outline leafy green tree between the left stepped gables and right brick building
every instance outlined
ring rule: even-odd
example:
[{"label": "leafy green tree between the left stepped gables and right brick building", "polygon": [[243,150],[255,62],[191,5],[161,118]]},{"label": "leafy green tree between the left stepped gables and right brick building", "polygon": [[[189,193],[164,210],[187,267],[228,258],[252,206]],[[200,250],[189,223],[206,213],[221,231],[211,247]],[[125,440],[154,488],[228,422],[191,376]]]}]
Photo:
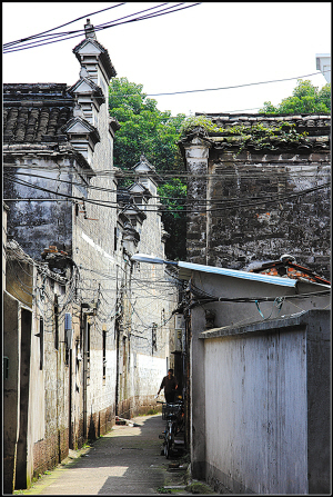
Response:
[{"label": "leafy green tree between the left stepped gables and right brick building", "polygon": [[[142,89],[142,85],[129,82],[127,78],[111,80],[110,116],[121,126],[114,138],[114,166],[130,170],[144,153],[158,172],[182,172],[184,166],[178,141],[185,116],[172,117],[170,111],[160,111],[157,101],[147,98]],[[161,181],[159,195],[165,206],[164,228],[170,235],[165,243],[167,257],[184,259],[186,187],[180,179],[170,178]]]}]

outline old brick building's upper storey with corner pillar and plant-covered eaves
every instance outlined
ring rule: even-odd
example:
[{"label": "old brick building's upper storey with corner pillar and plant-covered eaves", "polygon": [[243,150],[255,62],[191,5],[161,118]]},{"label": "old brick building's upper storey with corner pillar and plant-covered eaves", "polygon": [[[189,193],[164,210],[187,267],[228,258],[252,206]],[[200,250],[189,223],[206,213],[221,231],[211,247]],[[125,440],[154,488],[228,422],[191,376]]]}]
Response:
[{"label": "old brick building's upper storey with corner pillar and plant-covered eaves", "polygon": [[[195,129],[180,142],[190,175],[188,260],[248,270],[290,254],[330,279],[330,116],[208,117],[225,131]],[[304,140],[279,131],[265,146],[248,145],[233,129],[258,138],[283,122]]]}]

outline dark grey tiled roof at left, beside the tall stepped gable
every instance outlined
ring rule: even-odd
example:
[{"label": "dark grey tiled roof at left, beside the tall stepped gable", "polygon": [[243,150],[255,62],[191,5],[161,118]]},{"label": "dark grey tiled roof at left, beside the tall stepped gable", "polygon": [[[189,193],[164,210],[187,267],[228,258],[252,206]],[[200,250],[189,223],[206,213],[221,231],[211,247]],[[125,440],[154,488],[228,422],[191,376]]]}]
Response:
[{"label": "dark grey tiled roof at left, beside the tall stepped gable", "polygon": [[3,141],[67,141],[61,128],[73,116],[67,85],[3,85]]}]

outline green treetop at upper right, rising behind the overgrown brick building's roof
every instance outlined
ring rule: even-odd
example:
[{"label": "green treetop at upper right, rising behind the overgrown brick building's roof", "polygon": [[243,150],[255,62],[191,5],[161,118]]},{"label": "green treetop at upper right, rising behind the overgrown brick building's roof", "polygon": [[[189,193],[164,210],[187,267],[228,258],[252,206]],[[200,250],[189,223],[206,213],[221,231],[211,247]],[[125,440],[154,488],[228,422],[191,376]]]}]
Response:
[{"label": "green treetop at upper right, rising behind the overgrown brick building's roof", "polygon": [[331,85],[325,85],[321,90],[314,87],[310,80],[297,80],[293,95],[282,100],[276,107],[271,101],[264,102],[260,113],[321,113],[331,112]]}]

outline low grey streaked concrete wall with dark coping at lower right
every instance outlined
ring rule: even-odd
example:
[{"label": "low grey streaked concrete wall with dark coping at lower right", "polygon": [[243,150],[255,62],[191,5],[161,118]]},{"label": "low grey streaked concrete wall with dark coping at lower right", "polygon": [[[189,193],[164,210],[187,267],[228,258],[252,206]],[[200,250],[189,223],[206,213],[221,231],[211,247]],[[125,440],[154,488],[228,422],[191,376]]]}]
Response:
[{"label": "low grey streaked concrete wall with dark coping at lower right", "polygon": [[219,490],[330,493],[329,319],[204,334],[205,470]]}]

